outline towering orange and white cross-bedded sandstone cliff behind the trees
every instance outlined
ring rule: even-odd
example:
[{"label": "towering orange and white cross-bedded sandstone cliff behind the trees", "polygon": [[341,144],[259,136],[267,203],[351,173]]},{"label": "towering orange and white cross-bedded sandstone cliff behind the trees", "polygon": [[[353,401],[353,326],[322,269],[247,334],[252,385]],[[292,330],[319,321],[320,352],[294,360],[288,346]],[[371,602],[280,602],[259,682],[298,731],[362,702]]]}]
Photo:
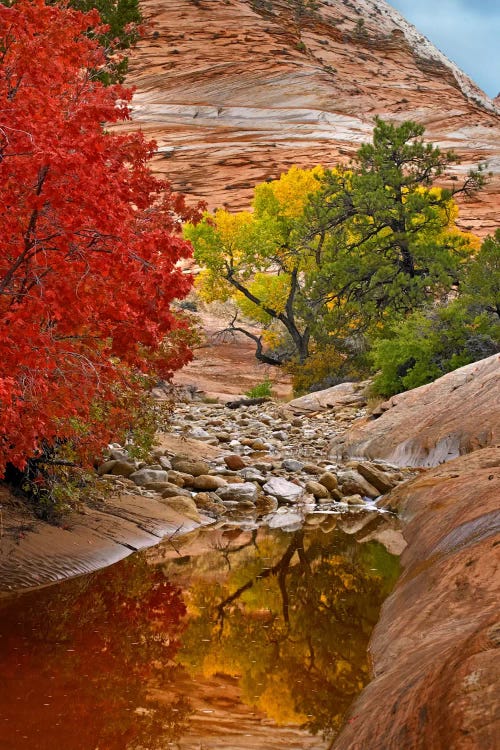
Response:
[{"label": "towering orange and white cross-bedded sandstone cliff behind the trees", "polygon": [[493,102],[383,0],[144,0],[131,58],[133,122],[158,143],[155,171],[210,207],[247,207],[292,164],[333,166],[373,118],[487,160],[494,177],[462,226],[498,223],[500,117]]}]

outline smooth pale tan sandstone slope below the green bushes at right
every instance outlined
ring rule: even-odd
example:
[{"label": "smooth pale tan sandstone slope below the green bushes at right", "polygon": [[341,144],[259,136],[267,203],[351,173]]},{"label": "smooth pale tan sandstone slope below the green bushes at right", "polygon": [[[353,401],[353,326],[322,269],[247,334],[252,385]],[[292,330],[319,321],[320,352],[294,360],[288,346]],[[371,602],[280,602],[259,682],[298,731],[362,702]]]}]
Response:
[{"label": "smooth pale tan sandstone slope below the green bushes at right", "polygon": [[393,396],[378,419],[358,423],[331,446],[342,457],[436,466],[500,444],[500,355]]}]

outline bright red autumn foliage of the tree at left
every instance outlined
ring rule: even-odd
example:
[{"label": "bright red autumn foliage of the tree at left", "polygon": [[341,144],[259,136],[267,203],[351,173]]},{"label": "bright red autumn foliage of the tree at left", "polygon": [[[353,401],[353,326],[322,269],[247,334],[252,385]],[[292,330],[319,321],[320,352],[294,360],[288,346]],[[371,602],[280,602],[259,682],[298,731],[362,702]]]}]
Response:
[{"label": "bright red autumn foliage of the tree at left", "polygon": [[[190,358],[171,302],[194,218],[147,163],[155,144],[106,132],[130,89],[103,86],[102,49],[82,14],[0,5],[0,475],[43,441],[102,444],[127,421],[132,373],[163,378]],[[130,393],[130,390],[128,391]]]}]

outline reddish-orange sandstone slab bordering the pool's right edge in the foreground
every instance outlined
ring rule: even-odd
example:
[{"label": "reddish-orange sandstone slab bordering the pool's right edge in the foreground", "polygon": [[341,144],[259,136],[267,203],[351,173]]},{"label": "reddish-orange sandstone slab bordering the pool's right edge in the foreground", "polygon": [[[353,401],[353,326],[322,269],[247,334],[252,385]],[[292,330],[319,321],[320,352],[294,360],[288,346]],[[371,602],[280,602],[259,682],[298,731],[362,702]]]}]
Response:
[{"label": "reddish-orange sandstone slab bordering the pool's right edge in the foreground", "polygon": [[494,750],[498,702],[500,449],[394,490],[404,573],[371,641],[374,679],[333,750]]}]

